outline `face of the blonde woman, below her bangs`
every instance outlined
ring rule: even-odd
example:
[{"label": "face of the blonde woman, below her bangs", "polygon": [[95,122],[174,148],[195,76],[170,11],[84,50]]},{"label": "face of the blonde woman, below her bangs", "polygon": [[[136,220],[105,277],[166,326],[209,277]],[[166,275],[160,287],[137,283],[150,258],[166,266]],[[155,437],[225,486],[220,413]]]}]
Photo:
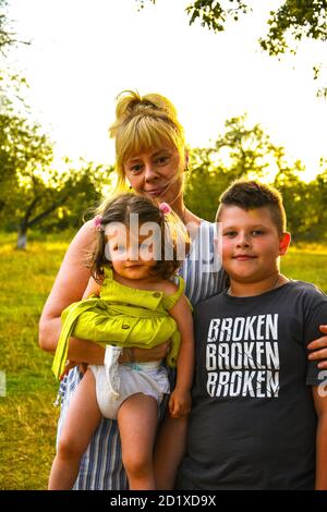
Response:
[{"label": "face of the blonde woman, below her bangs", "polygon": [[135,192],[172,205],[183,186],[181,160],[179,151],[171,146],[132,155],[124,162],[125,176]]}]

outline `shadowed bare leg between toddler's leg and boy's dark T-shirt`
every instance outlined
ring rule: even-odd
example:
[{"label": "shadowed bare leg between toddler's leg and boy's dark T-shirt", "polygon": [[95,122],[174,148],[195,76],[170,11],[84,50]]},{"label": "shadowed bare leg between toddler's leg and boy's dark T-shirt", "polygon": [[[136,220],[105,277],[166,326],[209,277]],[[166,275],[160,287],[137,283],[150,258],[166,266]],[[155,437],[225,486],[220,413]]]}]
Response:
[{"label": "shadowed bare leg between toddler's leg and boy's dark T-shirt", "polygon": [[174,481],[186,448],[189,416],[172,418],[168,415],[161,424],[155,450],[157,489],[174,489]]}]

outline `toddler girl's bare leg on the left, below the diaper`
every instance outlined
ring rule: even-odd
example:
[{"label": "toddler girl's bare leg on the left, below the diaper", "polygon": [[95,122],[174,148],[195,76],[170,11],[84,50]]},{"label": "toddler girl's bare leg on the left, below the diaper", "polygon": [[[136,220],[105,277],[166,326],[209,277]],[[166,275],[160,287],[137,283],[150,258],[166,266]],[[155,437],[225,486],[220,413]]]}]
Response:
[{"label": "toddler girl's bare leg on the left, below the diaper", "polygon": [[87,369],[69,405],[50,473],[48,487],[50,490],[73,487],[81,458],[100,419],[95,378],[92,370]]}]

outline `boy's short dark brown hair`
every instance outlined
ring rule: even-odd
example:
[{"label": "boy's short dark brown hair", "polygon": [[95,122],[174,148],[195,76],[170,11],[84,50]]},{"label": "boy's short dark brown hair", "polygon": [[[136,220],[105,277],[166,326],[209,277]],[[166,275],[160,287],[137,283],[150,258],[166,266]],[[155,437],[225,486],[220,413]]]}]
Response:
[{"label": "boy's short dark brown hair", "polygon": [[223,206],[238,206],[245,211],[268,208],[279,234],[286,231],[287,216],[282,197],[274,186],[257,181],[237,180],[221,194],[219,200],[220,205],[216,215],[217,222],[219,222]]}]

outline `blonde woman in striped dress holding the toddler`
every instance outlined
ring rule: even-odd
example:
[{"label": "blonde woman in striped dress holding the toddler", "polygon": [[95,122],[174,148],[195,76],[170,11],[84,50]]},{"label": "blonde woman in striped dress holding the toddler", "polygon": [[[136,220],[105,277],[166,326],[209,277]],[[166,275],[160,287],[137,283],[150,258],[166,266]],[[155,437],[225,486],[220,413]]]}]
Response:
[{"label": "blonde woman in striped dress holding the toddler", "polygon": [[[199,219],[183,202],[189,154],[175,109],[162,96],[141,97],[128,92],[120,96],[116,113],[110,135],[116,138],[118,186],[122,188],[130,185],[135,193],[170,204],[187,227],[193,243],[180,273],[186,282],[189,300],[196,304],[221,291],[226,277],[215,256],[214,224]],[[86,222],[65,254],[40,319],[39,343],[46,351],[56,350],[61,330],[61,312],[72,302],[80,301],[87,287],[89,270],[84,260],[94,239],[93,221]],[[324,332],[327,333],[327,326]],[[327,346],[327,337],[320,338],[313,348],[322,346]],[[147,351],[134,349],[132,354],[124,354],[123,357],[126,357],[125,361],[132,356],[134,361],[146,362],[161,359],[167,352],[168,343]],[[326,350],[320,351],[317,358],[324,358],[326,354]],[[90,341],[72,339],[69,357],[76,363],[102,364],[104,349]],[[82,376],[75,366],[63,382],[65,389],[59,435],[68,404]],[[102,419],[82,460],[74,488],[125,489],[126,485],[117,424]]]}]

